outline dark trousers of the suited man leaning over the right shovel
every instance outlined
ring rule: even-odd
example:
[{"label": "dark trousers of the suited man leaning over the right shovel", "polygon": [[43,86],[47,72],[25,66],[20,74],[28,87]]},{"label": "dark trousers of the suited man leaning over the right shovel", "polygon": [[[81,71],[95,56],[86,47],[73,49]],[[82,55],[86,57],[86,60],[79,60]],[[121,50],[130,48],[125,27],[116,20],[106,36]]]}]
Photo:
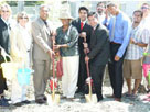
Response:
[{"label": "dark trousers of the suited man leaning over the right shovel", "polygon": [[105,66],[106,65],[99,65],[99,66],[90,65],[90,75],[98,101],[103,99],[101,87],[103,87]]}]

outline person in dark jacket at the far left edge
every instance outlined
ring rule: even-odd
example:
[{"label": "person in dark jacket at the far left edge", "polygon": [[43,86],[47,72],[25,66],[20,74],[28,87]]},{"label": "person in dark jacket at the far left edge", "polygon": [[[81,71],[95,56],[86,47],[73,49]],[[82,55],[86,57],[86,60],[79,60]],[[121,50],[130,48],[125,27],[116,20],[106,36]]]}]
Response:
[{"label": "person in dark jacket at the far left edge", "polygon": [[[8,4],[2,4],[0,7],[0,64],[4,61],[2,57],[2,51],[10,53],[10,23],[9,18],[11,15],[11,8]],[[3,78],[2,69],[0,69],[0,105],[9,107],[8,101],[3,97],[4,90],[7,90],[6,78]]]}]

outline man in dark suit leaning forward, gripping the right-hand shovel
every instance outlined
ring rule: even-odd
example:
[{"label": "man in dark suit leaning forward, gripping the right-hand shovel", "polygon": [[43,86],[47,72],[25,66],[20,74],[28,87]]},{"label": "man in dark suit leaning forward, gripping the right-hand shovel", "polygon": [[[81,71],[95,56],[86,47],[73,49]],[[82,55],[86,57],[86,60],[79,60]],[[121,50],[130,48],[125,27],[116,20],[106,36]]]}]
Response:
[{"label": "man in dark suit leaning forward, gripping the right-hand shovel", "polygon": [[97,100],[103,100],[101,85],[105,66],[109,58],[109,38],[106,27],[98,24],[98,15],[96,12],[88,14],[88,22],[93,26],[93,33],[89,43],[89,53],[85,57],[85,61],[89,61],[90,75],[95,87]]}]

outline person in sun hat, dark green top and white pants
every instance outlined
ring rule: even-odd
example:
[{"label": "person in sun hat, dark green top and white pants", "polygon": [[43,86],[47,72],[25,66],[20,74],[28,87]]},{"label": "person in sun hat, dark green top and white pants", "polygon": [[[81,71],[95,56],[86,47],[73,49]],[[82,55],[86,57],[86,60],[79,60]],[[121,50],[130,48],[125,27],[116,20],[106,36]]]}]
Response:
[{"label": "person in sun hat, dark green top and white pants", "polygon": [[73,101],[76,91],[79,53],[78,53],[78,32],[71,25],[73,18],[67,11],[62,11],[60,20],[63,26],[56,30],[55,49],[60,49],[63,61],[62,89],[63,98]]}]

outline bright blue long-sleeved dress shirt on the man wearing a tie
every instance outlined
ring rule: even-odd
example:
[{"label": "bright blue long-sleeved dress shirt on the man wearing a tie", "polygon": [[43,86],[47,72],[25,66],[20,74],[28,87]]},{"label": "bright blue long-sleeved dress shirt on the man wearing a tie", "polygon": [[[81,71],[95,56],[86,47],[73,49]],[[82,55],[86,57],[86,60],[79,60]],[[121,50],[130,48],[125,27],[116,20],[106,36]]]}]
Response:
[{"label": "bright blue long-sleeved dress shirt on the man wearing a tie", "polygon": [[[115,19],[116,19],[115,33],[114,37],[111,37],[113,24]],[[105,19],[105,22],[107,22],[107,19]],[[122,12],[119,12],[119,14],[116,18],[110,18],[107,29],[109,30],[110,42],[121,44],[116,55],[122,57],[130,40],[131,32],[130,19]]]}]

